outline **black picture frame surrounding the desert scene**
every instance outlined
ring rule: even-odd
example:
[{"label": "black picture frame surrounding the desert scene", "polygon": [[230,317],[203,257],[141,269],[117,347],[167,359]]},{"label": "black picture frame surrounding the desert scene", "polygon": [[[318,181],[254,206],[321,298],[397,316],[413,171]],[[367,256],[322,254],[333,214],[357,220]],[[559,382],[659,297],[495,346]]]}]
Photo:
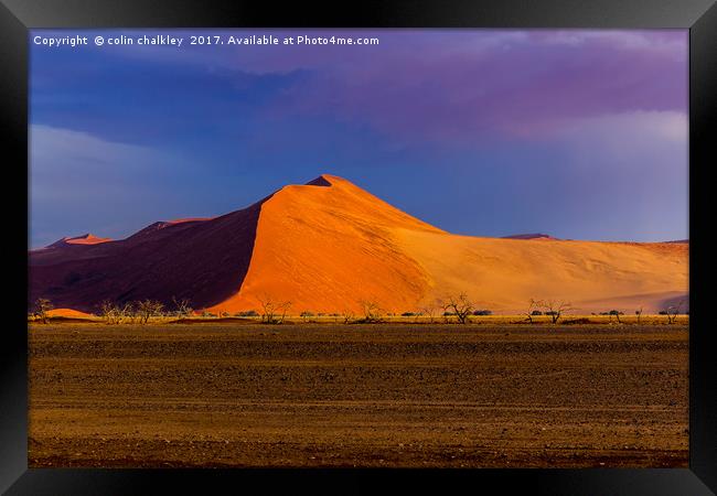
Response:
[{"label": "black picture frame surrounding the desert scene", "polygon": [[[645,470],[68,470],[28,468],[26,288],[28,30],[33,28],[613,28],[689,29],[689,468]],[[0,490],[7,494],[236,493],[258,483],[314,492],[355,492],[400,478],[404,490],[461,484],[472,490],[550,495],[703,495],[717,492],[717,374],[706,317],[706,237],[700,213],[708,208],[708,168],[717,163],[710,130],[717,109],[717,6],[714,0],[392,0],[335,2],[201,0],[0,0],[0,130],[6,194],[12,194],[10,239],[4,248],[15,270],[12,319],[2,335]],[[713,127],[710,128],[710,125]],[[711,144],[711,145],[710,145]],[[12,174],[12,180],[8,176]],[[15,183],[17,181],[17,183]],[[17,202],[17,203],[15,203]],[[26,212],[28,214],[28,212]],[[25,224],[23,225],[23,222]],[[704,234],[705,233],[705,234]],[[11,242],[12,241],[12,242]],[[15,262],[17,259],[17,262]],[[24,260],[24,262],[23,262]],[[25,300],[25,301],[23,301]],[[459,487],[456,485],[454,487]]]}]

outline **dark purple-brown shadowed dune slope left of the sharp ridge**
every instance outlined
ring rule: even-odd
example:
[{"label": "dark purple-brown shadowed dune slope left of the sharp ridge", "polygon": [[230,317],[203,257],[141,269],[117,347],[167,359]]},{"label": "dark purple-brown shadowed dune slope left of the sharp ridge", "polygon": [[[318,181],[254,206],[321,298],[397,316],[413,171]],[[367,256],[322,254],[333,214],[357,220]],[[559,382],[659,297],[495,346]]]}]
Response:
[{"label": "dark purple-brown shadowed dune slope left of the sharp ridge", "polygon": [[96,310],[146,298],[195,308],[236,293],[252,258],[260,202],[212,219],[154,223],[129,238],[30,252],[30,302]]}]

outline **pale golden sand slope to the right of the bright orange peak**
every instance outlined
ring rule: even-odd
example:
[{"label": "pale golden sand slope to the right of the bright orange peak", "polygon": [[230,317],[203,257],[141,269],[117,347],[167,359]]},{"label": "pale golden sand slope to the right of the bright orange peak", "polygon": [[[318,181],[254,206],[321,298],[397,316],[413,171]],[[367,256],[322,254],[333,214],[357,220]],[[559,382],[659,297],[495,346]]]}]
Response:
[{"label": "pale golden sand slope to the right of the bright orange peak", "polygon": [[427,299],[464,291],[479,306],[514,313],[531,299],[570,301],[584,312],[662,309],[686,294],[687,247],[515,240],[400,230],[402,246],[432,274]]}]

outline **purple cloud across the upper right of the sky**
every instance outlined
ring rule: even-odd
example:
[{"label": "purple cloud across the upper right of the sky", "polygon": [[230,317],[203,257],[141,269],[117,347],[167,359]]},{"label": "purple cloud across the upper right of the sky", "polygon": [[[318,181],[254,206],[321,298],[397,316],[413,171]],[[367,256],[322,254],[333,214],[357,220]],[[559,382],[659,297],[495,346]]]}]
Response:
[{"label": "purple cloud across the upper right of the sky", "polygon": [[266,111],[332,116],[409,143],[480,147],[559,119],[687,108],[683,32],[397,33],[371,55],[351,52],[317,69],[332,53],[312,62],[297,54],[291,67],[309,76]]}]

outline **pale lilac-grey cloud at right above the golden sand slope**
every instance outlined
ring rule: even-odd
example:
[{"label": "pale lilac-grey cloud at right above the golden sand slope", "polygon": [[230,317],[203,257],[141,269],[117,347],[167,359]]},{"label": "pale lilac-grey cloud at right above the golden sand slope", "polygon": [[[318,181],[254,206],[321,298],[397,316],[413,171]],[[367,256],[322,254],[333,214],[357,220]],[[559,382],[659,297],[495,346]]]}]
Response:
[{"label": "pale lilac-grey cloud at right above the golden sand slope", "polygon": [[687,132],[684,112],[633,111],[566,119],[541,136],[561,150],[559,169],[548,173],[571,236],[686,238]]}]

